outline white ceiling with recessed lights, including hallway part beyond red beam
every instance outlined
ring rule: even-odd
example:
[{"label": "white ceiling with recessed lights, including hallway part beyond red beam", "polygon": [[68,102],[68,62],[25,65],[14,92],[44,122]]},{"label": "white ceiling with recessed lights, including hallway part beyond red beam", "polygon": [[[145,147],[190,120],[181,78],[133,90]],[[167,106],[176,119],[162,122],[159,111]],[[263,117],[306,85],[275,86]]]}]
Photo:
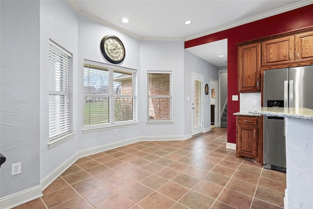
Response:
[{"label": "white ceiling with recessed lights, including hallway part beyond red beam", "polygon": [[[312,4],[312,0],[69,0],[80,15],[140,40],[187,41]],[[128,18],[129,23],[122,23]],[[190,25],[184,21],[190,20]],[[187,49],[220,67],[227,41]],[[223,54],[220,58],[218,55]]]}]

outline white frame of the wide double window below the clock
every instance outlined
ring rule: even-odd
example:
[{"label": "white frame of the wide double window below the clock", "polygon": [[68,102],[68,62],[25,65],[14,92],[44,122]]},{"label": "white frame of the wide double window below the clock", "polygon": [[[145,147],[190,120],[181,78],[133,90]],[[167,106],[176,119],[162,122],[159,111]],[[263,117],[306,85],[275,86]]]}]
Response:
[{"label": "white frame of the wide double window below the clock", "polygon": [[[110,130],[110,129],[115,129],[115,128],[122,128],[122,127],[129,127],[129,126],[134,126],[138,125],[137,122],[137,70],[129,69],[129,68],[123,68],[119,66],[113,66],[113,65],[108,65],[104,63],[99,63],[99,62],[94,62],[90,60],[84,60],[84,66],[85,64],[90,64],[90,65],[95,65],[99,67],[105,67],[109,69],[109,94],[103,95],[104,97],[109,97],[109,106],[114,107],[114,98],[118,97],[129,97],[133,98],[133,120],[128,120],[128,121],[114,121],[114,108],[109,108],[109,123],[104,123],[104,124],[99,124],[99,125],[89,125],[85,126],[84,124],[84,129],[83,133],[90,133],[90,132],[96,132],[96,131],[104,131],[104,130]],[[84,67],[85,69],[85,67]],[[132,79],[133,79],[133,95],[115,95],[113,93],[113,70],[124,70],[128,72],[132,72]],[[84,74],[84,80],[85,80],[85,74]],[[83,84],[85,85],[85,84]],[[84,90],[83,90],[84,91]],[[84,93],[84,92],[83,92]],[[95,94],[88,94],[84,93],[84,105],[85,105],[85,97],[92,97]],[[85,113],[83,113],[85,116]]]}]

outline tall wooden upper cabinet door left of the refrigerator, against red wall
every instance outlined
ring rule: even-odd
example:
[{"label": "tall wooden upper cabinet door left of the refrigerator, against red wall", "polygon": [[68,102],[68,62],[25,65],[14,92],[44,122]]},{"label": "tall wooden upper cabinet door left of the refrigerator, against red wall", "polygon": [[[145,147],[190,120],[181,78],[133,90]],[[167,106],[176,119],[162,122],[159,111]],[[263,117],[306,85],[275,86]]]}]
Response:
[{"label": "tall wooden upper cabinet door left of the refrigerator, against red wall", "polygon": [[238,47],[239,92],[261,92],[261,44]]}]

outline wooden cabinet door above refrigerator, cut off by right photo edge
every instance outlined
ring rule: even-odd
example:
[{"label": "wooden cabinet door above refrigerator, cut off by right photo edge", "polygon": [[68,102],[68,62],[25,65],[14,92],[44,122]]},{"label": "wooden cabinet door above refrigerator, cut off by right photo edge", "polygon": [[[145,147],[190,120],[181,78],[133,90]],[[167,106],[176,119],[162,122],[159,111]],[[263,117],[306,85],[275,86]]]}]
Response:
[{"label": "wooden cabinet door above refrigerator, cut off by right photo edge", "polygon": [[313,60],[313,31],[295,36],[296,60]]}]

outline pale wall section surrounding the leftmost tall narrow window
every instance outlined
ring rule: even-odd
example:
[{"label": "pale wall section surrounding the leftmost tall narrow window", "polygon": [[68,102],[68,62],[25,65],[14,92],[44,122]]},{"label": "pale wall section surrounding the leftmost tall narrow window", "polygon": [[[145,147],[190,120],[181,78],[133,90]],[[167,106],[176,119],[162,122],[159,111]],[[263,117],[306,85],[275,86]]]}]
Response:
[{"label": "pale wall section surrounding the leftmost tall narrow window", "polygon": [[[68,1],[40,1],[40,177],[45,178],[74,155],[80,142],[78,125],[78,15]],[[72,53],[72,123],[75,136],[48,148],[49,140],[49,39]],[[39,41],[39,40],[38,40]]]}]

